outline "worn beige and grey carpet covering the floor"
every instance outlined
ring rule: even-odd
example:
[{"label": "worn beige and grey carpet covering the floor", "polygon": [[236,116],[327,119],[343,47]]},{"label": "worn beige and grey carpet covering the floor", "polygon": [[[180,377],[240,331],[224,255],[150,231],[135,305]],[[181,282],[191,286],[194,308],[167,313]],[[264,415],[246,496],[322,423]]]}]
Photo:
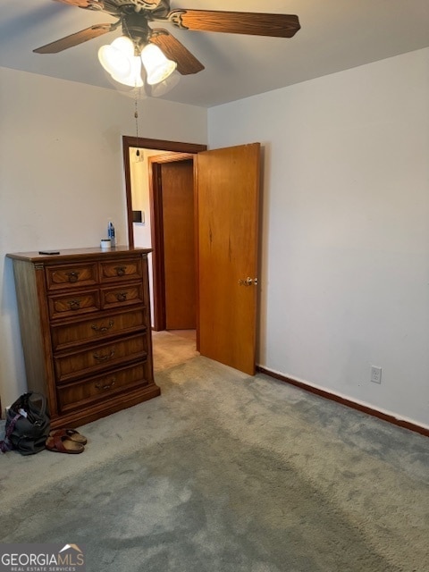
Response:
[{"label": "worn beige and grey carpet covering the floor", "polygon": [[0,456],[0,548],[77,543],[91,572],[428,572],[427,438],[154,346],[161,396],[81,427],[82,455]]}]

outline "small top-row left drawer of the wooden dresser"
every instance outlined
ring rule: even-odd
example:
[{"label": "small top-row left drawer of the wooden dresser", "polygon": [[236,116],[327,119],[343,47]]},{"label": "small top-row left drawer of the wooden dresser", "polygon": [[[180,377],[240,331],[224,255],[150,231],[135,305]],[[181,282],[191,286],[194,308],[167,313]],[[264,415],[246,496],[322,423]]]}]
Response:
[{"label": "small top-row left drawer of the wooden dresser", "polygon": [[47,290],[85,288],[98,282],[96,263],[46,266]]}]

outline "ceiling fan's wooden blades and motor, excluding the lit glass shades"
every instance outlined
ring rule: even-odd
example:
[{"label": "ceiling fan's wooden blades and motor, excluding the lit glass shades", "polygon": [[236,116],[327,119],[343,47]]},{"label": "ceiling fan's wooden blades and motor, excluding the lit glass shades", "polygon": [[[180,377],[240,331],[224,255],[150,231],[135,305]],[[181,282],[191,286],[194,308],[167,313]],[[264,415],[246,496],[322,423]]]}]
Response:
[{"label": "ceiling fan's wooden blades and motor, excluding the lit glass shades", "polygon": [[[33,50],[37,54],[56,54],[72,46],[97,38],[122,26],[122,35],[130,38],[134,55],[145,46],[157,46],[174,63],[181,75],[198,73],[204,65],[167,29],[151,28],[149,22],[170,23],[178,29],[226,32],[291,38],[299,30],[296,15],[273,13],[220,12],[210,10],[171,10],[170,0],[55,0],[84,10],[108,13],[118,20],[96,24]],[[142,56],[143,57],[143,56]],[[104,65],[100,58],[100,62]],[[110,70],[109,70],[110,71]],[[114,78],[116,79],[116,78]]]}]

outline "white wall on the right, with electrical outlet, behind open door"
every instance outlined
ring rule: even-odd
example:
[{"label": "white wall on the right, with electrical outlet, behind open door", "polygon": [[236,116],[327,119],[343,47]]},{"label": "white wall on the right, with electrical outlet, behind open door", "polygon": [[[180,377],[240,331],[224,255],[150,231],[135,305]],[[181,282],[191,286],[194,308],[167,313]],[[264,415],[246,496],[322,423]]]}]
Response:
[{"label": "white wall on the right, with electrical outlet, behind open door", "polygon": [[208,118],[265,147],[259,364],[429,426],[429,49]]}]

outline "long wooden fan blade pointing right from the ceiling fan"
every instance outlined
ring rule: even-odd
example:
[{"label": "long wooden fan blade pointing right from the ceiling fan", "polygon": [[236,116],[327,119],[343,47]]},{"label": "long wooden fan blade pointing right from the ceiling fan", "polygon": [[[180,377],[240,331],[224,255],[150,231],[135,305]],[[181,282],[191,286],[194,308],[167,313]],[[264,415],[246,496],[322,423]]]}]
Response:
[{"label": "long wooden fan blade pointing right from the ceiling fan", "polygon": [[172,10],[168,19],[179,28],[277,38],[291,38],[300,28],[298,16],[290,14],[183,9]]}]

